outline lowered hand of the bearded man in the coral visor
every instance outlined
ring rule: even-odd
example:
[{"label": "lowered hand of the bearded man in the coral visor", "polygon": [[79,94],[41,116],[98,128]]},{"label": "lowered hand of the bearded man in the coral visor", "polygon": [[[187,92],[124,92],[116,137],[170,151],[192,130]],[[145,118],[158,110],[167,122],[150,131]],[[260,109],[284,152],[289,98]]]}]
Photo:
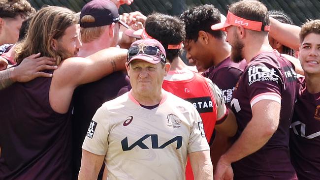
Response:
[{"label": "lowered hand of the bearded man in the coral visor", "polygon": [[214,180],[233,180],[233,170],[231,163],[227,162],[222,155],[218,161]]}]

